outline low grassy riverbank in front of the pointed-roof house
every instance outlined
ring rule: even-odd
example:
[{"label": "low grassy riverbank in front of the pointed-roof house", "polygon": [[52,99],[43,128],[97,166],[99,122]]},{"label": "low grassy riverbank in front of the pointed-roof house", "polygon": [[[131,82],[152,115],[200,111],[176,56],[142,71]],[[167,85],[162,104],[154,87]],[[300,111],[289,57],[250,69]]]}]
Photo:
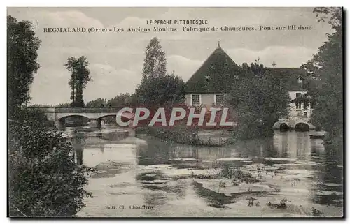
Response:
[{"label": "low grassy riverbank in front of the pointed-roof house", "polygon": [[232,132],[229,130],[191,130],[186,127],[162,128],[139,127],[137,134],[146,134],[160,140],[204,147],[223,147],[230,143]]}]

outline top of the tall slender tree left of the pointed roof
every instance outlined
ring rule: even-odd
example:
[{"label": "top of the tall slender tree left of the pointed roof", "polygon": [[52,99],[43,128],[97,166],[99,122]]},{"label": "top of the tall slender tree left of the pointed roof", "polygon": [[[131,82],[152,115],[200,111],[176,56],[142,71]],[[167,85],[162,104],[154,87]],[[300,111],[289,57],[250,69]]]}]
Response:
[{"label": "top of the tall slender tree left of the pointed roof", "polygon": [[146,47],[143,77],[165,76],[167,73],[167,59],[158,38],[153,38]]}]

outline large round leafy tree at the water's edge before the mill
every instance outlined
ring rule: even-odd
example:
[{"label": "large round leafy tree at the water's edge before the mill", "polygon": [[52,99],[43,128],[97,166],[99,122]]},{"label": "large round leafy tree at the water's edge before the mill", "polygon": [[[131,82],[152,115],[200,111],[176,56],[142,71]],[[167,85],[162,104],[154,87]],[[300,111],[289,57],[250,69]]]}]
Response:
[{"label": "large round leafy tree at the water's edge before the mill", "polygon": [[273,135],[272,126],[287,117],[290,98],[274,77],[259,61],[239,67],[238,79],[227,96],[237,116],[240,139]]}]

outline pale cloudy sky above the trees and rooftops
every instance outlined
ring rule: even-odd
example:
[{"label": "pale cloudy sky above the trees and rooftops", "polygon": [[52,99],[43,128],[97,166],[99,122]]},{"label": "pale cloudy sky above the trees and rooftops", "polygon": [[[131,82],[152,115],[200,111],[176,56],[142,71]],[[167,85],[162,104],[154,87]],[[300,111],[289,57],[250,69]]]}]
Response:
[{"label": "pale cloudy sky above the trees and rooftops", "polygon": [[[167,57],[167,71],[186,82],[220,45],[239,65],[255,59],[265,66],[300,67],[316,54],[332,33],[327,23],[317,22],[313,8],[8,8],[8,15],[33,22],[41,40],[41,68],[31,84],[31,104],[69,103],[68,57],[84,55],[92,82],[84,90],[87,103],[133,93],[141,82],[145,49],[153,37],[160,39]],[[208,20],[219,31],[148,33],[45,33],[48,27],[113,29],[151,28],[147,20]],[[223,26],[310,26],[304,31],[220,31]],[[192,27],[197,27],[193,25]],[[204,26],[205,27],[205,26]]]}]

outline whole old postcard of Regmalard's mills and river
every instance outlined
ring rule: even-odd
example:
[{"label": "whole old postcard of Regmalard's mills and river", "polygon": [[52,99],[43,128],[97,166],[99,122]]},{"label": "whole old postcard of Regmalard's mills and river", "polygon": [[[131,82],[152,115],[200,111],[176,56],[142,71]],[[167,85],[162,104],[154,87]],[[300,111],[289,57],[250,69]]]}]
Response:
[{"label": "whole old postcard of Regmalard's mills and river", "polygon": [[8,8],[9,217],[344,216],[342,8]]}]

